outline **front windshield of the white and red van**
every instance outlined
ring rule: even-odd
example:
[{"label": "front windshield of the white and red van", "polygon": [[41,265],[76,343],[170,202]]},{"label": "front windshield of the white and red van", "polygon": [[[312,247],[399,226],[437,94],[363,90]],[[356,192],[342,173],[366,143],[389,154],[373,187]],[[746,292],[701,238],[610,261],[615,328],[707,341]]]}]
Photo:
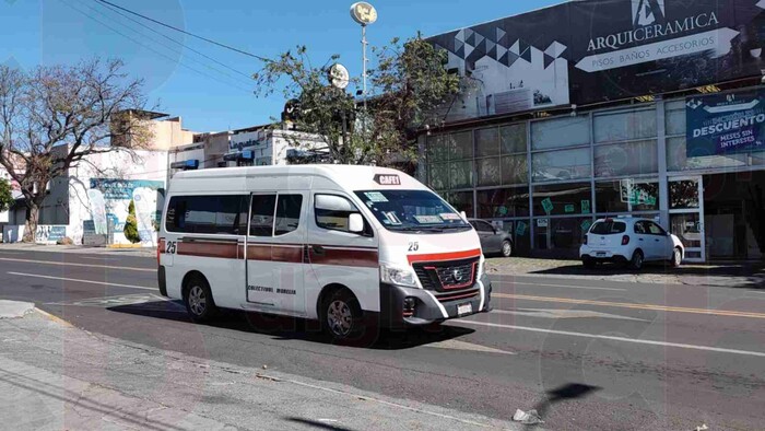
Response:
[{"label": "front windshield of the white and red van", "polygon": [[438,195],[427,190],[364,190],[356,196],[389,231],[444,232],[472,229]]}]

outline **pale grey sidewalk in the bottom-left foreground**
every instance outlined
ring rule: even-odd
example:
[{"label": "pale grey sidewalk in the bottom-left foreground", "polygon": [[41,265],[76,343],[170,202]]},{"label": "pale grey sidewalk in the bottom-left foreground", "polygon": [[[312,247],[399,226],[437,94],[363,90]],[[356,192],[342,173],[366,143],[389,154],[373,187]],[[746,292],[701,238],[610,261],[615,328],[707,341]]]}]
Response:
[{"label": "pale grey sidewalk in the bottom-left foreground", "polygon": [[0,319],[0,418],[16,430],[520,429],[252,365],[96,336],[37,311]]}]

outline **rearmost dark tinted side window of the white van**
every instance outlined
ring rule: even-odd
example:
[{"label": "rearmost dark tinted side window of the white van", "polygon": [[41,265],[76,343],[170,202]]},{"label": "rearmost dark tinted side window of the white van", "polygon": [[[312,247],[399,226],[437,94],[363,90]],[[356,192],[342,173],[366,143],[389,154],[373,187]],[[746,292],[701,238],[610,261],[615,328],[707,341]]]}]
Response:
[{"label": "rearmost dark tinted side window of the white van", "polygon": [[167,207],[165,225],[169,232],[244,234],[247,201],[246,196],[176,196]]}]

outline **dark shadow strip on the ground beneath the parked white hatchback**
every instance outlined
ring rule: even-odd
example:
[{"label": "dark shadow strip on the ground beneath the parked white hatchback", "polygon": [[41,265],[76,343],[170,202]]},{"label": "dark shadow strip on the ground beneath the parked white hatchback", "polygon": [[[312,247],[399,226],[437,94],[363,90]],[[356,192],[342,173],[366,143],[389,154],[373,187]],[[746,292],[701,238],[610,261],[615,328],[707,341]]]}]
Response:
[{"label": "dark shadow strip on the ground beneath the parked white hatchback", "polygon": [[[738,264],[711,266],[681,266],[668,268],[662,264],[646,264],[639,271],[616,264],[598,265],[596,268],[585,268],[581,264],[561,266],[556,268],[531,271],[537,275],[558,276],[623,276],[623,275],[661,275],[693,278],[693,284],[704,284],[698,278],[714,277],[715,286],[746,289],[765,289],[765,264]],[[725,283],[731,278],[730,283]]]}]

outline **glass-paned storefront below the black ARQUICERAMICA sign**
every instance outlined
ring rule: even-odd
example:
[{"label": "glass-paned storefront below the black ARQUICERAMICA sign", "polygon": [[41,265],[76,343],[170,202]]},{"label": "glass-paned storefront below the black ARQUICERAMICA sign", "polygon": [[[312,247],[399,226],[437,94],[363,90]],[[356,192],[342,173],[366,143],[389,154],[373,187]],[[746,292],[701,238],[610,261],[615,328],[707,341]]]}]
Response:
[{"label": "glass-paned storefront below the black ARQUICERAMICA sign", "polygon": [[[685,133],[685,100],[471,127],[427,137],[423,179],[468,215],[513,233],[521,255],[576,257],[596,218],[633,214],[661,220],[701,259],[710,247],[702,175],[763,170],[765,151],[688,154]],[[754,212],[735,205],[707,223],[727,232],[728,211],[745,224]],[[735,235],[757,236],[746,229]],[[731,249],[720,236],[713,256]]]}]

